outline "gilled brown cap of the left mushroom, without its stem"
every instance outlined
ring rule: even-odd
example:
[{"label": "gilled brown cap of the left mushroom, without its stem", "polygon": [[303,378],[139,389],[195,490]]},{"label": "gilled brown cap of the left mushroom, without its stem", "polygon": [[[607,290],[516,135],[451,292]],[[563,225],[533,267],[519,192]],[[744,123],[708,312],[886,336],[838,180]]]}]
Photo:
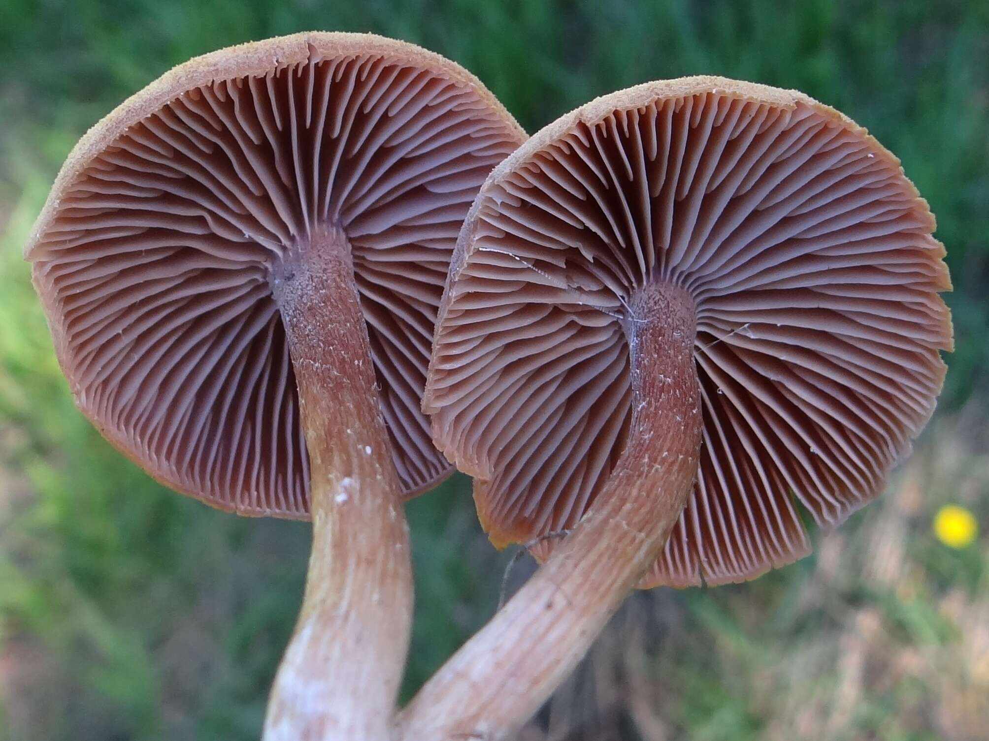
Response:
[{"label": "gilled brown cap of the left mushroom, without its stem", "polygon": [[297,34],[171,70],[82,137],[26,248],[79,408],[178,491],[308,517],[273,270],[338,227],[404,491],[428,488],[452,470],[419,409],[450,256],[524,137],[466,70],[376,36]]}]

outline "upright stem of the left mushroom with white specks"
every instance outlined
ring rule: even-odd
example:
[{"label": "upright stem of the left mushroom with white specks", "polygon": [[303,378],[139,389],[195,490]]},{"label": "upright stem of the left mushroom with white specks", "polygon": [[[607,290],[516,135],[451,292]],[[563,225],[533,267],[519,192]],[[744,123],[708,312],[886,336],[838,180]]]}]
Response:
[{"label": "upright stem of the left mushroom with white specks", "polygon": [[309,450],[313,551],[272,689],[266,741],[381,741],[412,615],[408,529],[375,391],[349,245],[338,230],[274,278]]}]

